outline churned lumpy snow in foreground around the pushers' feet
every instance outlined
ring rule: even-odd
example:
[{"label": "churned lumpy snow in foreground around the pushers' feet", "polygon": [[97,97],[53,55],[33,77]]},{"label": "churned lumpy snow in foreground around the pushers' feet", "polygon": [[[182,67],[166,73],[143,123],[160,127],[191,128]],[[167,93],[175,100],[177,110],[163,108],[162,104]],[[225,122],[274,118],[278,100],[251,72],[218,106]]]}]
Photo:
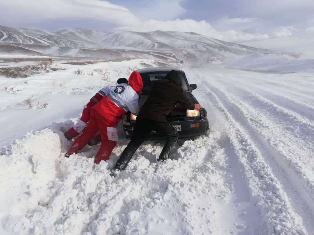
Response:
[{"label": "churned lumpy snow in foreground around the pushers' feet", "polygon": [[[111,160],[93,165],[97,147],[64,158],[67,124],[28,133],[1,159],[2,234],[234,234],[261,232],[248,223],[246,203],[234,201],[226,182],[225,152],[219,133],[181,142],[156,165],[162,145],[146,142],[128,168],[113,179]],[[110,166],[110,167],[109,167]],[[236,205],[236,206],[235,206]],[[241,205],[241,206],[240,206]],[[259,211],[249,211],[259,218]],[[221,226],[221,220],[233,223]],[[259,220],[259,219],[258,219]]]}]

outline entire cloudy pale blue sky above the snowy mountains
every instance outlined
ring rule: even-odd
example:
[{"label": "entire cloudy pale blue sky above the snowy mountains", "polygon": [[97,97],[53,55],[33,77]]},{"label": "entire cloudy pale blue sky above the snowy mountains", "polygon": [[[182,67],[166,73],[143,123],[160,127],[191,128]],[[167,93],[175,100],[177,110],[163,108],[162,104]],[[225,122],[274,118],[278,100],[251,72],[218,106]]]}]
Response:
[{"label": "entire cloudy pale blue sky above the snowy mountains", "polygon": [[57,31],[194,31],[246,45],[314,52],[314,0],[10,0],[0,24]]}]

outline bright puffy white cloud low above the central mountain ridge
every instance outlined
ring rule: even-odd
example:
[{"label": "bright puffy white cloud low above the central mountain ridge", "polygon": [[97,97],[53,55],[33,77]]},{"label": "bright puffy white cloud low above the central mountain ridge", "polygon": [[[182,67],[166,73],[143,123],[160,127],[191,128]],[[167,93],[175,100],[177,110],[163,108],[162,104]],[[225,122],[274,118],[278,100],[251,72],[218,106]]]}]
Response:
[{"label": "bright puffy white cloud low above the central mountain ridge", "polygon": [[248,34],[244,32],[238,32],[236,30],[218,31],[214,29],[206,21],[196,21],[192,19],[175,19],[167,21],[148,20],[142,23],[138,23],[132,26],[117,28],[119,31],[138,31],[148,32],[155,30],[164,31],[181,31],[181,32],[195,32],[198,34],[206,35],[209,37],[217,38],[220,40],[241,42],[250,40],[262,40],[268,39],[267,34]]}]

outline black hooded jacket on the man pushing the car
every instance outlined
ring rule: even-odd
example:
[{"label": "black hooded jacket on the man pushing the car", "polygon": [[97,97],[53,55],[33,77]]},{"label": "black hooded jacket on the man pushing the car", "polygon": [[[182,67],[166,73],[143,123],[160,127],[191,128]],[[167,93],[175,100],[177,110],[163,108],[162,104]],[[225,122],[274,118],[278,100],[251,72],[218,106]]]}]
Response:
[{"label": "black hooded jacket on the man pushing the car", "polygon": [[138,117],[148,120],[166,122],[168,116],[177,103],[186,109],[194,109],[194,104],[187,98],[181,88],[180,74],[171,70],[164,79],[156,81],[150,96],[140,109]]}]

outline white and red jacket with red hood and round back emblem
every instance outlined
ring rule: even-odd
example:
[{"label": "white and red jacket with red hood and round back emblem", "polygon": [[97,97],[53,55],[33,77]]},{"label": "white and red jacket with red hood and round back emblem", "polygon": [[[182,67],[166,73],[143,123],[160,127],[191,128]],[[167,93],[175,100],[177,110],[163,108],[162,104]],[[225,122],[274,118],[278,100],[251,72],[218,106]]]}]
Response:
[{"label": "white and red jacket with red hood and round back emblem", "polygon": [[132,72],[129,84],[115,84],[107,89],[106,96],[93,106],[96,112],[116,124],[127,111],[138,114],[138,94],[143,89],[142,77],[138,72]]}]

